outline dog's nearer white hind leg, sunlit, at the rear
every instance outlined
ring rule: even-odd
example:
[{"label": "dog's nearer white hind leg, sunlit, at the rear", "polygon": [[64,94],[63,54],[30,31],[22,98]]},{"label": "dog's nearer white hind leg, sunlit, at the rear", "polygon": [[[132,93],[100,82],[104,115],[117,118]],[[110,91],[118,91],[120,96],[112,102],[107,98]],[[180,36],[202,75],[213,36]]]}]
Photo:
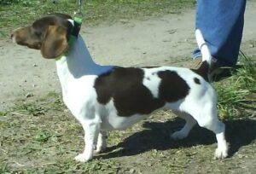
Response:
[{"label": "dog's nearer white hind leg, sunlit, at the rear", "polygon": [[207,102],[201,108],[194,107],[190,114],[198,125],[213,131],[216,135],[218,148],[215,151],[215,159],[224,159],[228,156],[228,145],[225,140],[225,125],[218,119],[216,104]]}]

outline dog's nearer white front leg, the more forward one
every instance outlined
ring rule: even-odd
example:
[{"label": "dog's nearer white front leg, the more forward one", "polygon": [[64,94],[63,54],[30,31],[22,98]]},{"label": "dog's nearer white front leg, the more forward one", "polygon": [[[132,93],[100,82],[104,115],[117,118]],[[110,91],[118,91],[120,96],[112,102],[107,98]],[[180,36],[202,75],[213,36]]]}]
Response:
[{"label": "dog's nearer white front leg, the more forward one", "polygon": [[99,136],[100,123],[96,121],[81,121],[84,128],[84,152],[75,157],[79,162],[86,162],[92,159],[94,147]]}]

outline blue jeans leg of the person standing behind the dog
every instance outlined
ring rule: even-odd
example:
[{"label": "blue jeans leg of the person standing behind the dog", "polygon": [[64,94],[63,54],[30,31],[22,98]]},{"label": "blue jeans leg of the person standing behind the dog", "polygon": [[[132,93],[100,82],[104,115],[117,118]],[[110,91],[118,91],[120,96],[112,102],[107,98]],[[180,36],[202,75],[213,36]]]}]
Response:
[{"label": "blue jeans leg of the person standing behind the dog", "polygon": [[[246,0],[197,0],[195,28],[210,52],[224,66],[236,65],[241,44]],[[194,55],[200,54],[195,49]]]}]

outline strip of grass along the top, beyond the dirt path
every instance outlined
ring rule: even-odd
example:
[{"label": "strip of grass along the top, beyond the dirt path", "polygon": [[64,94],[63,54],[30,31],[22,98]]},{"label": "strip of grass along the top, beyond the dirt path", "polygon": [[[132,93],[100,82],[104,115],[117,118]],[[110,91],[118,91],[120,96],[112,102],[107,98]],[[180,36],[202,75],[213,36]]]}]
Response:
[{"label": "strip of grass along the top, beyond the dirt path", "polygon": [[[78,10],[76,0],[0,0],[0,34],[6,38],[12,30],[52,12],[73,15]],[[102,21],[181,13],[195,5],[194,0],[86,0],[83,3],[84,24],[96,25]],[[0,35],[1,36],[1,35]]]}]

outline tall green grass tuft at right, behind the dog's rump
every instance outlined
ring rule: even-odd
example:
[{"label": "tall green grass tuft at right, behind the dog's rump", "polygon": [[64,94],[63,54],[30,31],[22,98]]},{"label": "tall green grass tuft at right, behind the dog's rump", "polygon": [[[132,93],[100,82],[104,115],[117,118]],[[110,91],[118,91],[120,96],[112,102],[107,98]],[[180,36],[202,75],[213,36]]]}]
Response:
[{"label": "tall green grass tuft at right, behind the dog's rump", "polygon": [[216,83],[218,110],[222,119],[237,119],[256,109],[256,68],[254,59],[241,52],[242,68],[231,69],[232,76],[224,83]]}]

